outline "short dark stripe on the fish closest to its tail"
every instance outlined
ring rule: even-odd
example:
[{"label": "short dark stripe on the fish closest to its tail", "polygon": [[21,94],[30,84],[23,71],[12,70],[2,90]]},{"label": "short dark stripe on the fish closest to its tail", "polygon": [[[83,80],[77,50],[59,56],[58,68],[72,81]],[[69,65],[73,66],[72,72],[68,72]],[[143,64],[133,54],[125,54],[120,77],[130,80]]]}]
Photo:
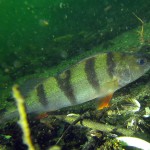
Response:
[{"label": "short dark stripe on the fish closest to its tail", "polygon": [[45,91],[44,91],[44,86],[43,84],[38,85],[36,88],[37,90],[37,96],[39,97],[39,102],[46,107],[48,105],[48,101],[46,99]]}]

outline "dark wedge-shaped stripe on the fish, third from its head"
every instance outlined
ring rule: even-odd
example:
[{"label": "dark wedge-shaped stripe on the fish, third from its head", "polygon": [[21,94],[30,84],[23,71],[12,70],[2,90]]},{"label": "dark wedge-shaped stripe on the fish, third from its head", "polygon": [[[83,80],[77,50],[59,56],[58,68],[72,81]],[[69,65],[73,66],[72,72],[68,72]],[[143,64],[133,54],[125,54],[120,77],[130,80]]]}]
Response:
[{"label": "dark wedge-shaped stripe on the fish, third from its head", "polygon": [[57,83],[60,89],[64,92],[65,96],[69,99],[72,104],[76,104],[76,98],[74,95],[73,87],[70,83],[71,72],[70,70],[66,70],[64,72],[65,77],[61,77],[61,74],[56,76]]}]

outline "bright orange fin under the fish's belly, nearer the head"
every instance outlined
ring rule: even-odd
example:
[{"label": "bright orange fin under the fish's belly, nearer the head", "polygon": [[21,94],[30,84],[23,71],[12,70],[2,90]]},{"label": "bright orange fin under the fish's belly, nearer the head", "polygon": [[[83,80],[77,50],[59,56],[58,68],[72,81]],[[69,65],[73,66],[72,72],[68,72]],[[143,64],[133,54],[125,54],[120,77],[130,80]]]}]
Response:
[{"label": "bright orange fin under the fish's belly, nearer the head", "polygon": [[109,102],[112,99],[112,97],[113,97],[113,93],[101,98],[98,102],[98,110],[101,110],[105,107],[109,107],[110,106]]}]

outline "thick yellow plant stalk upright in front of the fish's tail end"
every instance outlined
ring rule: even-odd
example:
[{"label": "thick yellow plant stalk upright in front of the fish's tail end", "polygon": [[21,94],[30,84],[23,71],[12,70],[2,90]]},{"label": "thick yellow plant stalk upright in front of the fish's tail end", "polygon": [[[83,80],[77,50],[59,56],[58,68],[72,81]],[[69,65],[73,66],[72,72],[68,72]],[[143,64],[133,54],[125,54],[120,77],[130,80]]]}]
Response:
[{"label": "thick yellow plant stalk upright in front of the fish's tail end", "polygon": [[19,112],[19,116],[20,116],[20,120],[18,121],[18,123],[21,126],[21,129],[23,132],[23,142],[24,142],[24,144],[26,144],[28,146],[28,150],[35,150],[32,140],[31,140],[30,127],[29,127],[29,124],[27,121],[27,114],[26,114],[24,98],[19,91],[18,85],[14,85],[12,90],[13,90],[13,96],[16,100],[18,112]]}]

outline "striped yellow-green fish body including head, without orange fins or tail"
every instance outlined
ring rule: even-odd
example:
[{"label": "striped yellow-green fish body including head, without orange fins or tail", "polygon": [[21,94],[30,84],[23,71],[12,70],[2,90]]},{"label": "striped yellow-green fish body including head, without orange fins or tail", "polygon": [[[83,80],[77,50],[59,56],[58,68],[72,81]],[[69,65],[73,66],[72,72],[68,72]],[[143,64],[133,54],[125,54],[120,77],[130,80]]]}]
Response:
[{"label": "striped yellow-green fish body including head, without orange fins or tail", "polygon": [[[140,64],[140,60],[145,64]],[[150,64],[146,60],[141,55],[117,52],[100,53],[84,59],[37,84],[25,98],[27,110],[54,111],[102,98],[148,71]]]}]

